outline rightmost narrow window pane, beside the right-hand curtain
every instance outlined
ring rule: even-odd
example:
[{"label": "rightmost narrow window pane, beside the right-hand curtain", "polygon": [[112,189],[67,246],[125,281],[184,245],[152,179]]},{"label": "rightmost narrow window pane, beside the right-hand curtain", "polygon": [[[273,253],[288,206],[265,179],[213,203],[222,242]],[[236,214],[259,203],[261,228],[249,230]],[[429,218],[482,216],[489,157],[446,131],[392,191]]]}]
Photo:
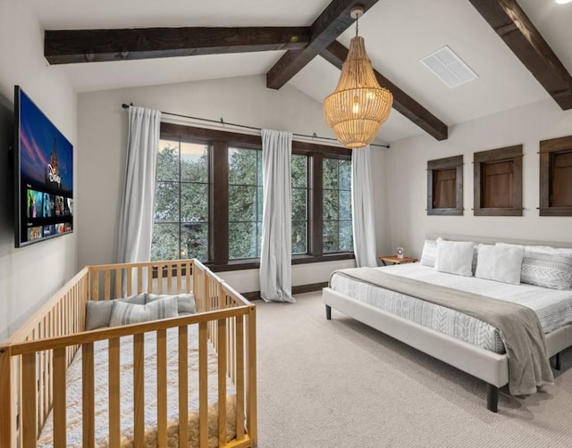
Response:
[{"label": "rightmost narrow window pane, beside the right-hand curtain", "polygon": [[351,252],[351,162],[324,157],[324,253]]}]

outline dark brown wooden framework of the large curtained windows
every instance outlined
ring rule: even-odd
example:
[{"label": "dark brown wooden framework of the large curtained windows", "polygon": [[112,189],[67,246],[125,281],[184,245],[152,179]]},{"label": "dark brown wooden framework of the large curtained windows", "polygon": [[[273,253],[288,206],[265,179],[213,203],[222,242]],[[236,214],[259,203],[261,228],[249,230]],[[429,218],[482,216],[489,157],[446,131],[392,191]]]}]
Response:
[{"label": "dark brown wooden framework of the large curtained windows", "polygon": [[[262,148],[258,135],[240,134],[219,129],[196,128],[175,123],[161,123],[161,139],[181,139],[194,143],[207,143],[209,151],[210,235],[227,237],[210,238],[210,261],[206,265],[213,271],[258,269],[259,259],[229,260],[229,209],[228,209],[228,148]],[[308,230],[306,254],[292,255],[292,264],[354,259],[354,253],[323,253],[322,247],[322,162],[324,156],[351,160],[351,150],[338,146],[308,142],[292,142],[292,153],[305,154],[308,158]]]}]

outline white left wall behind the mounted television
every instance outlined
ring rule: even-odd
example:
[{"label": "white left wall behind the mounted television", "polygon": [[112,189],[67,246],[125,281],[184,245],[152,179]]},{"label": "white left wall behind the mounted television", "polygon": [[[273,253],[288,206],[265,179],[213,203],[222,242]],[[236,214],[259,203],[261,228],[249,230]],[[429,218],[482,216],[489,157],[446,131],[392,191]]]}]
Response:
[{"label": "white left wall behind the mounted television", "polygon": [[[14,248],[13,177],[7,155],[13,144],[14,85],[74,146],[76,142],[76,95],[62,71],[47,66],[43,48],[43,31],[26,3],[0,2],[0,341],[77,270],[77,233]],[[77,153],[76,146],[76,167]]]}]

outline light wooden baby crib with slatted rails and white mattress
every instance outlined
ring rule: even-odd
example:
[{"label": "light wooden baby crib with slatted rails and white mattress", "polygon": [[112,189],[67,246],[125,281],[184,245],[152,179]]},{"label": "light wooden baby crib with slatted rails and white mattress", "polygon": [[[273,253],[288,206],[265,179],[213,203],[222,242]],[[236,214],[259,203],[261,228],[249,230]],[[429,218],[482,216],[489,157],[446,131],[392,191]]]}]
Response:
[{"label": "light wooden baby crib with slatted rails and white mattress", "polygon": [[[141,297],[174,313],[87,329]],[[0,395],[3,447],[256,446],[256,308],[196,260],[89,266],[0,345]]]}]

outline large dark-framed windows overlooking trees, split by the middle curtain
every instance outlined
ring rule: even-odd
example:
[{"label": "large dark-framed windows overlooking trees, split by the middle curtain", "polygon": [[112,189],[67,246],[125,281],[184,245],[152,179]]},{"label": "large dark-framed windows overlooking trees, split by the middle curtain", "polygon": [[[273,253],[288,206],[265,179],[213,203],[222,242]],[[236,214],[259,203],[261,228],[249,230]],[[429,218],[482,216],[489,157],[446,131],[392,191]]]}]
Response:
[{"label": "large dark-framed windows overlooking trees, split by the middle curtain", "polygon": [[[260,136],[161,124],[152,259],[255,269],[261,253]],[[351,153],[293,142],[292,262],[353,258]]]}]

